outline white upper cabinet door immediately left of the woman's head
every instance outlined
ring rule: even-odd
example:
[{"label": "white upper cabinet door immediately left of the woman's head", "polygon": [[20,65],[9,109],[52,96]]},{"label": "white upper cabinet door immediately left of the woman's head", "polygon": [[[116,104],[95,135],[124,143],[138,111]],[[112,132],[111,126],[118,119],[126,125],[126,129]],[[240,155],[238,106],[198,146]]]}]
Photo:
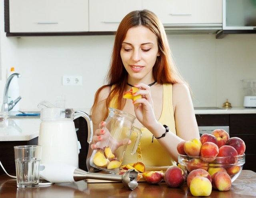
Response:
[{"label": "white upper cabinet door immediately left of the woman's head", "polygon": [[142,9],[142,0],[89,0],[89,31],[116,31],[122,18]]}]

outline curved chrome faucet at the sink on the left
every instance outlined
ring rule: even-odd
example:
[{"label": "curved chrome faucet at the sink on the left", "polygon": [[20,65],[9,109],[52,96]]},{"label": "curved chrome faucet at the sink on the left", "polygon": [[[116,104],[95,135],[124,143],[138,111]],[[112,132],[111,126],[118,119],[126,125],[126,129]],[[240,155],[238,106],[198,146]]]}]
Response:
[{"label": "curved chrome faucet at the sink on the left", "polygon": [[21,97],[19,96],[14,101],[11,101],[8,103],[8,89],[10,82],[14,76],[17,76],[17,78],[20,78],[21,75],[18,73],[14,73],[9,76],[9,78],[6,81],[5,87],[4,87],[4,98],[3,98],[3,104],[2,104],[2,111],[10,111],[12,108],[20,101]]}]

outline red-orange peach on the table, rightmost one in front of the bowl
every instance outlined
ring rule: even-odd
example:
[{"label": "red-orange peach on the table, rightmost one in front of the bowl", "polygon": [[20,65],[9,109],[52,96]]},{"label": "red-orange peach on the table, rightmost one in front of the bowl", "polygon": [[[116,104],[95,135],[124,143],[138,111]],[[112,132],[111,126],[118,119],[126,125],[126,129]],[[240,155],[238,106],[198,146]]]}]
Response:
[{"label": "red-orange peach on the table, rightmost one in front of the bowl", "polygon": [[231,185],[231,178],[226,172],[216,172],[212,176],[212,187],[216,190],[228,191]]}]

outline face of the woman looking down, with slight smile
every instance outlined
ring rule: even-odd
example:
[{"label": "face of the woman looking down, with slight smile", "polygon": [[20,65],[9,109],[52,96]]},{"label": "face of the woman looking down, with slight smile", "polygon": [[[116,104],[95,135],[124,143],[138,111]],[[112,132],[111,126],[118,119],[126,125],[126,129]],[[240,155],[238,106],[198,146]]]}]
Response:
[{"label": "face of the woman looking down, with slight smile", "polygon": [[120,51],[120,56],[126,71],[128,82],[138,80],[150,83],[153,79],[152,68],[158,54],[156,35],[144,26],[130,28]]}]

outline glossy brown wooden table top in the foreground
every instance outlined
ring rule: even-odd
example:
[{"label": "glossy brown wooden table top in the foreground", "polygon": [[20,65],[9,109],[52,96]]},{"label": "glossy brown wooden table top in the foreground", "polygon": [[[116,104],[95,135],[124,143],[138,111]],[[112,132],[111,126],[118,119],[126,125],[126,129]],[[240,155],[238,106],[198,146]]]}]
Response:
[{"label": "glossy brown wooden table top in the foreground", "polygon": [[[122,183],[86,183],[84,181],[39,188],[19,189],[16,179],[0,176],[0,198],[185,198],[193,197],[186,183],[181,188],[170,188],[165,182],[151,185],[139,182],[133,191]],[[256,197],[256,172],[242,170],[229,191],[212,190],[210,198],[252,198]]]}]

